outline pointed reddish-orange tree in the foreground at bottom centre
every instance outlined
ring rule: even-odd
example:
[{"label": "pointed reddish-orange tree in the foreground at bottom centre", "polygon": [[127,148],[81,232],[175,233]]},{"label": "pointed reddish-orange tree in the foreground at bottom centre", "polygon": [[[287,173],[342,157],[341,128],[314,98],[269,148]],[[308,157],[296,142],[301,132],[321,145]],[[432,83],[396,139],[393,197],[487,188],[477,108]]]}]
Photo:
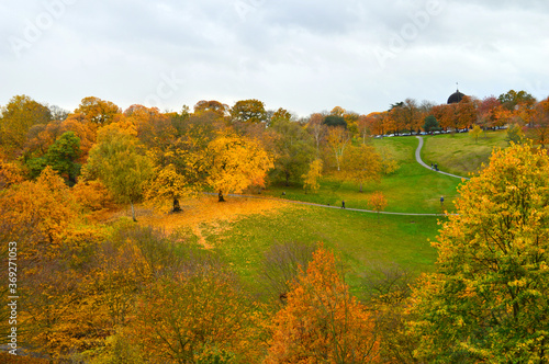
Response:
[{"label": "pointed reddish-orange tree in the foreground at bottom centre", "polygon": [[272,320],[266,363],[372,363],[374,323],[349,293],[334,254],[320,247]]}]

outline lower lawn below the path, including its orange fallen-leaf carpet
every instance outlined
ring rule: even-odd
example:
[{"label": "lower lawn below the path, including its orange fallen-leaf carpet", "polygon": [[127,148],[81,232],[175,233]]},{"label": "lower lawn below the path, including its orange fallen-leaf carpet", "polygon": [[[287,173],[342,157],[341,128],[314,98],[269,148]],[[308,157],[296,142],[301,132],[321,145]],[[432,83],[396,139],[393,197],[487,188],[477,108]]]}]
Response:
[{"label": "lower lawn below the path, including its orange fallen-leaf carpet", "polygon": [[139,215],[139,224],[181,231],[224,255],[243,278],[260,288],[261,261],[277,242],[324,242],[349,268],[348,282],[360,296],[361,275],[373,266],[399,264],[429,271],[436,251],[437,217],[410,217],[296,205],[283,201],[214,196],[184,203],[182,214]]}]

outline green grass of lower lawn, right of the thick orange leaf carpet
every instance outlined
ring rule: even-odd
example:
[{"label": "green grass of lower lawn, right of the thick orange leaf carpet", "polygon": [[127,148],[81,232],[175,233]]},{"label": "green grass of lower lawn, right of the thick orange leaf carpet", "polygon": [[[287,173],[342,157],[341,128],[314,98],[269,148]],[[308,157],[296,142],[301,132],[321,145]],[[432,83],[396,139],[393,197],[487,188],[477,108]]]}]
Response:
[{"label": "green grass of lower lawn, right of the thick orange leaf carpet", "polygon": [[437,217],[410,217],[350,212],[341,208],[289,206],[276,214],[250,215],[215,229],[206,241],[251,285],[266,251],[276,242],[324,242],[349,268],[348,283],[360,296],[361,275],[377,265],[396,263],[417,274],[433,269]]}]

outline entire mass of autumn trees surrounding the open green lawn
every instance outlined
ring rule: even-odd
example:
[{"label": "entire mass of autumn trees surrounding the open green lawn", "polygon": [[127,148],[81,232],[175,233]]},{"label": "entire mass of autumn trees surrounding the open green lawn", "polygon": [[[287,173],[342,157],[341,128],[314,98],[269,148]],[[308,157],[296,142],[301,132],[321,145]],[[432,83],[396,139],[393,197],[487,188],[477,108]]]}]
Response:
[{"label": "entire mass of autumn trees surrounding the open green lawn", "polygon": [[[18,243],[19,342],[94,363],[546,362],[549,158],[524,136],[545,147],[548,123],[549,99],[524,91],[301,120],[258,100],[161,113],[86,98],[68,113],[14,96],[0,118],[0,238]],[[436,273],[413,285],[384,270],[367,280],[367,302],[322,244],[273,246],[258,298],[183,234],[104,223],[116,204],[136,220],[136,203],[178,213],[204,191],[220,202],[267,183],[314,193],[323,174],[361,189],[397,170],[374,135],[508,124],[520,144],[461,187]],[[0,252],[8,271],[7,243]],[[2,305],[4,338],[9,315]]]}]

